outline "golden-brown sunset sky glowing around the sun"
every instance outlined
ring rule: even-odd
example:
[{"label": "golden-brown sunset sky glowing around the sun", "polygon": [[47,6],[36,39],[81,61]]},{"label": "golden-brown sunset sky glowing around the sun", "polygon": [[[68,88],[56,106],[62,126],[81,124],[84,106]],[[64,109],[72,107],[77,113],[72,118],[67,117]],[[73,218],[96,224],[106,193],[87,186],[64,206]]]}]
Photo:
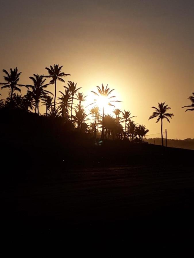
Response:
[{"label": "golden-brown sunset sky glowing around the sun", "polygon": [[[187,0],[0,0],[0,81],[2,69],[18,67],[20,83],[30,84],[34,73],[64,65],[65,85],[77,82],[87,104],[97,85],[108,84],[122,101],[116,107],[160,137],[160,124],[148,118],[166,101],[174,114],[164,122],[168,138],[194,138],[194,113],[181,109],[194,92],[193,13]],[[0,93],[7,97],[7,89]]]}]

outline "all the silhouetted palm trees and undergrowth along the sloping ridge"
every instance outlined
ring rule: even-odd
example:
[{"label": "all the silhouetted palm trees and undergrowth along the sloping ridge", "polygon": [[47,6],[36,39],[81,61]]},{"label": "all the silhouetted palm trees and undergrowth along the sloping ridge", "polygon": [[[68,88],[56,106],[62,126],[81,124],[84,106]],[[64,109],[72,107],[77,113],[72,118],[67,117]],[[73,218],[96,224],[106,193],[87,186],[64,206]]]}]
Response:
[{"label": "all the silhouetted palm trees and undergrowth along the sloping ridge", "polygon": [[[89,125],[87,124],[87,121],[90,119],[83,106],[87,96],[84,96],[84,94],[80,92],[81,87],[77,87],[77,83],[68,81],[67,86],[64,86],[64,92],[59,91],[61,95],[58,97],[57,103],[57,81],[65,83],[63,78],[70,76],[70,74],[62,72],[62,68],[63,66],[59,66],[58,64],[54,64],[54,66],[50,66],[49,68],[46,67],[45,69],[47,70],[48,75],[34,74],[33,76],[30,76],[29,78],[32,81],[31,85],[18,83],[21,72],[18,72],[17,67],[15,69],[10,69],[10,72],[3,69],[3,72],[5,73],[3,78],[5,82],[0,83],[0,85],[2,85],[1,89],[9,88],[10,91],[6,100],[0,100],[0,107],[9,107],[10,109],[19,108],[26,110],[27,112],[32,112],[34,110],[34,112],[39,115],[39,105],[40,102],[42,102],[42,105],[45,105],[46,107],[45,116],[53,118],[61,117],[64,123],[71,123],[73,126],[76,126],[76,128],[83,130],[84,132],[97,136],[100,134],[100,129],[101,138],[127,139],[132,142],[143,141],[143,137],[149,130],[146,129],[145,125],[135,124],[135,122],[132,121],[132,118],[135,116],[131,116],[130,111],[124,110],[124,112],[122,112],[113,105],[114,102],[121,101],[115,100],[115,96],[112,95],[114,89],[110,89],[108,85],[105,87],[102,84],[101,87],[97,86],[97,92],[91,91],[96,99],[90,104],[93,105],[93,107],[90,110],[92,120]],[[50,79],[48,83],[46,83],[47,78]],[[54,85],[54,95],[46,90],[49,85]],[[24,96],[15,93],[15,91],[21,93],[20,87],[26,87],[28,89]],[[115,108],[113,111],[115,118],[105,114],[105,105],[103,106],[102,114],[100,114],[98,102],[103,99],[106,99],[107,105]],[[185,107],[191,107],[191,109],[187,110],[194,110],[194,93],[189,99],[192,104]],[[78,103],[75,105],[74,101],[78,101]],[[172,118],[173,114],[167,112],[170,107],[165,105],[165,102],[158,103],[158,107],[152,108],[154,109],[154,112],[149,119],[157,118],[156,122],[161,121],[161,137],[163,145],[163,119],[170,122],[169,118]],[[124,127],[122,124],[124,124]]]}]

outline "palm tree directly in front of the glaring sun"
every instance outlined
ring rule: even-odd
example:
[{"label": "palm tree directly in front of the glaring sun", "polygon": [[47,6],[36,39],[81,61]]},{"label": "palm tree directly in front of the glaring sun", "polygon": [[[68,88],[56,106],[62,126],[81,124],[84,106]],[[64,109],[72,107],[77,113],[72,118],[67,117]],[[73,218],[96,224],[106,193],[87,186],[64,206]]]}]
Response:
[{"label": "palm tree directly in front of the glaring sun", "polygon": [[[112,91],[114,91],[114,89],[110,90],[110,88],[108,88],[108,84],[106,85],[106,87],[104,87],[104,85],[102,84],[101,88],[99,86],[96,86],[98,89],[98,93],[96,93],[95,91],[91,91],[92,93],[94,93],[94,95],[96,95],[97,97],[105,97],[108,100],[108,105],[110,106],[114,106],[112,105],[112,102],[122,102],[119,100],[110,100],[112,98],[115,98],[116,96],[110,96],[110,93]],[[96,103],[97,100],[95,100],[95,102],[91,103],[90,105]],[[104,125],[103,125],[103,120],[104,120],[104,106],[103,106],[103,113],[102,113],[102,132],[101,132],[101,138],[103,138],[103,132],[104,132]]]}]

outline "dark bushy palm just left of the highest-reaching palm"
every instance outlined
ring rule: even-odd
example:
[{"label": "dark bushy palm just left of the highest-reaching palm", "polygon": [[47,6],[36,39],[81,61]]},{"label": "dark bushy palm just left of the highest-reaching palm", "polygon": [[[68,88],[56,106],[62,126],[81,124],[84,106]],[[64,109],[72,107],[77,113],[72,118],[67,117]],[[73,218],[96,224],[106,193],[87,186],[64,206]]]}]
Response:
[{"label": "dark bushy palm just left of the highest-reaching palm", "polygon": [[46,79],[44,79],[44,75],[34,74],[34,77],[29,77],[34,85],[27,85],[29,88],[32,89],[31,94],[33,94],[33,98],[35,100],[35,113],[37,112],[39,115],[39,99],[44,100],[45,96],[48,94],[52,94],[50,91],[45,90],[45,88],[50,85],[51,83],[44,84]]}]

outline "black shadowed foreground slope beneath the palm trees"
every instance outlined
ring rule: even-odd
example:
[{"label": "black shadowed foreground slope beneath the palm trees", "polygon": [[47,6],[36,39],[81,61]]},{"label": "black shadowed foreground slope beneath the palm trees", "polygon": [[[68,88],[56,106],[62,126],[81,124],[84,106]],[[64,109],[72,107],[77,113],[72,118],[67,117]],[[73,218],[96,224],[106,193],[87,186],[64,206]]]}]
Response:
[{"label": "black shadowed foreground slope beneath the palm trees", "polygon": [[60,119],[0,111],[1,257],[193,257],[193,150],[98,146]]}]

